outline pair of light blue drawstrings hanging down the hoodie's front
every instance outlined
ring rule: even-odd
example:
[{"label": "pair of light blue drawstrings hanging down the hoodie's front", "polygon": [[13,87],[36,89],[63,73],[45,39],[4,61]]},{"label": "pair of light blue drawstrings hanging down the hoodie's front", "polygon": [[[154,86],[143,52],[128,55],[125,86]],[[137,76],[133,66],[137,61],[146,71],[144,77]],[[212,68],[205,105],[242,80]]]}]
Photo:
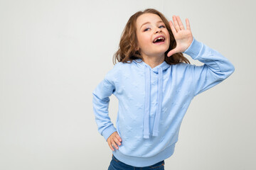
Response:
[{"label": "pair of light blue drawstrings hanging down the hoodie's front", "polygon": [[[158,96],[157,96],[157,107],[156,115],[154,120],[153,136],[159,135],[159,120],[161,115],[161,103],[163,97],[163,70],[159,67],[158,70]],[[151,70],[145,66],[145,108],[144,108],[144,138],[149,139],[149,112],[150,112],[150,97],[151,97]]]}]

